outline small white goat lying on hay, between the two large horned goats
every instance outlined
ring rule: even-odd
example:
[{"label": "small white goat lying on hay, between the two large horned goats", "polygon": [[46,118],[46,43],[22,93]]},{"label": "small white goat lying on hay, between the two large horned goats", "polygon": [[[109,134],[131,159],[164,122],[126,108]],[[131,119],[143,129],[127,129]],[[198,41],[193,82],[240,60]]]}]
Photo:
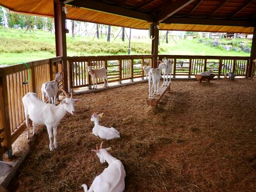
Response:
[{"label": "small white goat lying on hay, between the two large horned goats", "polygon": [[120,138],[120,133],[114,127],[108,128],[99,125],[99,117],[101,118],[102,115],[103,113],[100,113],[99,115],[97,113],[93,113],[92,115],[91,121],[94,122],[94,127],[92,129],[93,134],[105,140]]}]

